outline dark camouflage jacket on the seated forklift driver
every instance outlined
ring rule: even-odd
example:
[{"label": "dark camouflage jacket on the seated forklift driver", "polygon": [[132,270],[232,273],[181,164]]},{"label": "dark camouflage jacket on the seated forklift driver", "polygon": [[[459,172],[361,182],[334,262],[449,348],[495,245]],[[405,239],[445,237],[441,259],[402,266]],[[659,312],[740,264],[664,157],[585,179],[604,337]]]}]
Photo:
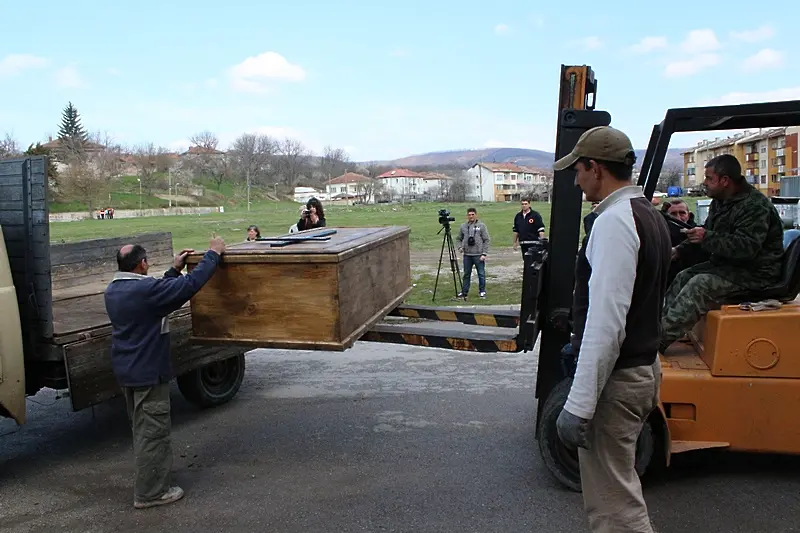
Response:
[{"label": "dark camouflage jacket on the seated forklift driver", "polygon": [[705,238],[699,244],[684,241],[678,253],[687,247],[699,247],[708,260],[695,265],[696,272],[717,274],[748,289],[776,283],[783,259],[783,223],[769,198],[751,185],[726,201],[712,200],[703,224]]}]

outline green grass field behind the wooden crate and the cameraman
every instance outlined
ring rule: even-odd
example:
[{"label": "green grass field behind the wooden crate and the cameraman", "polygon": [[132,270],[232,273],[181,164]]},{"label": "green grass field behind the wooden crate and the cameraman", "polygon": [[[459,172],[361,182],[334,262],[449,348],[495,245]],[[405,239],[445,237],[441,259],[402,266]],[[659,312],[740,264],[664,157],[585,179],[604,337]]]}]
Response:
[{"label": "green grass field behind the wooden crate and the cameraman", "polygon": [[[689,207],[695,210],[696,199],[690,198]],[[439,224],[439,209],[448,209],[452,217],[454,233],[466,220],[466,210],[473,204],[466,203],[410,203],[379,204],[366,206],[328,206],[325,217],[328,226],[389,226],[402,225],[411,228],[410,244],[412,254],[412,273],[414,289],[409,303],[431,303],[437,266],[442,246],[443,234]],[[515,203],[477,204],[478,217],[482,220],[491,238],[487,260],[487,298],[477,298],[477,273],[472,274],[471,298],[468,303],[480,304],[518,304],[522,281],[522,258],[511,248],[513,242],[512,224],[519,210]],[[584,203],[583,212],[588,213],[589,203]],[[262,236],[286,233],[289,226],[297,222],[300,205],[293,202],[260,202],[248,213],[243,208],[226,208],[225,213],[209,215],[180,215],[165,217],[145,217],[132,219],[96,220],[78,222],[58,222],[50,224],[52,242],[71,242],[83,239],[137,235],[155,231],[172,232],[176,251],[182,248],[205,250],[212,234],[217,234],[231,244],[241,242],[246,237],[246,229],[256,224]],[[545,225],[550,220],[550,204],[534,203],[533,209],[541,213]],[[454,235],[455,238],[455,235]],[[441,277],[437,288],[436,303],[454,305],[452,275],[445,253]],[[463,302],[461,302],[463,304]]]}]

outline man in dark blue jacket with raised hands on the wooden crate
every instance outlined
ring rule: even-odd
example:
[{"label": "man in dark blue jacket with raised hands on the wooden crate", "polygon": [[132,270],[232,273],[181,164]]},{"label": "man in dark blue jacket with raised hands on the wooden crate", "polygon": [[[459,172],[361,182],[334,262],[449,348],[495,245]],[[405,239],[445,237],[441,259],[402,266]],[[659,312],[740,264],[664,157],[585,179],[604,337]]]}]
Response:
[{"label": "man in dark blue jacket with raised hands on the wooden crate", "polygon": [[215,237],[191,273],[182,276],[186,256],[182,250],[164,277],[147,275],[147,252],[127,244],[117,252],[119,272],[105,291],[111,319],[111,365],[125,395],[133,431],[136,509],[180,500],[183,489],[170,484],[169,383],[172,361],[168,315],[180,309],[211,279],[225,252],[225,242]]}]

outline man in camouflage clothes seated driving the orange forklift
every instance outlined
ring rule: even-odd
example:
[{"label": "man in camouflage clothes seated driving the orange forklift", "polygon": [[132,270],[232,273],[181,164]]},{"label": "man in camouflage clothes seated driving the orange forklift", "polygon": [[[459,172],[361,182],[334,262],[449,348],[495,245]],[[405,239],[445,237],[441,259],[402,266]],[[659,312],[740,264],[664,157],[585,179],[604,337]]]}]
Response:
[{"label": "man in camouflage clothes seated driving the orange forklift", "polygon": [[783,224],[769,199],[747,183],[736,158],[725,154],[705,165],[712,199],[703,226],[686,231],[673,259],[699,249],[708,259],[680,272],[667,289],[661,321],[664,351],[683,337],[714,302],[778,282]]}]

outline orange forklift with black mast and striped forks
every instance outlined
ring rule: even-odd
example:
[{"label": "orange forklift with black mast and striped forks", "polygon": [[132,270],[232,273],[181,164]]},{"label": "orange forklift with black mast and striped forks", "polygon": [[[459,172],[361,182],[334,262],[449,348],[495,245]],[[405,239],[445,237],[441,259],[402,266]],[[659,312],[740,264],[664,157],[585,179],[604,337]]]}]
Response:
[{"label": "orange forklift with black mast and striped forks", "polygon": [[[572,151],[590,128],[611,125],[595,109],[597,80],[591,67],[561,66],[555,160]],[[653,127],[637,184],[652,199],[674,133],[800,125],[800,100],[669,109]],[[572,332],[574,269],[581,237],[583,193],[574,170],[556,171],[549,239],[532,243],[524,256],[520,310],[453,310],[401,305],[390,315],[422,319],[383,323],[362,340],[477,352],[532,351],[539,345],[536,439],[543,462],[565,487],[580,491],[577,452],[556,431],[572,383],[562,355]],[[660,401],[644,424],[636,451],[640,476],[670,465],[675,454],[720,449],[800,454],[800,239],[784,252],[779,283],[758,294],[719,302],[687,338],[659,354]],[[762,309],[749,302],[780,302]],[[472,325],[469,331],[438,321]],[[463,333],[463,334],[462,334]],[[574,362],[573,362],[574,363]]]}]

